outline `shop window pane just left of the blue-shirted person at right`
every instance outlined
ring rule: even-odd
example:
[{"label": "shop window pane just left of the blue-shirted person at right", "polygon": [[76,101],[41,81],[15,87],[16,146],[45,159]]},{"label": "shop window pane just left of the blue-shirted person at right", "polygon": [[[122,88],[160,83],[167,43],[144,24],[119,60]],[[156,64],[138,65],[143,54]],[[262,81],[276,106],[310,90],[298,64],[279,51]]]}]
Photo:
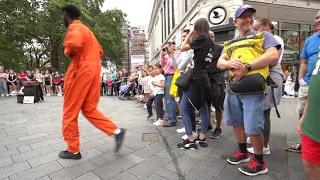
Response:
[{"label": "shop window pane just left of the blue-shirted person at right", "polygon": [[[281,26],[282,27],[282,26]],[[281,37],[284,42],[283,60],[297,61],[300,54],[300,32],[299,31],[281,31]]]}]

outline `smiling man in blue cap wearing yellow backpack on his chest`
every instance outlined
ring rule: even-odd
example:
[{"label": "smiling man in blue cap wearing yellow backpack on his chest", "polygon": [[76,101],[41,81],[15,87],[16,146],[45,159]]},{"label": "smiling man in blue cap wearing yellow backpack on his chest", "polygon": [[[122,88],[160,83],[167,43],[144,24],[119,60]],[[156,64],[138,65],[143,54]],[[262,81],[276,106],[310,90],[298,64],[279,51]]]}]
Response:
[{"label": "smiling man in blue cap wearing yellow backpack on his chest", "polygon": [[[248,163],[239,170],[249,176],[268,172],[262,152],[266,79],[269,66],[278,63],[278,49],[281,47],[272,34],[253,31],[255,12],[251,5],[236,10],[234,24],[239,36],[224,43],[224,53],[217,64],[222,70],[230,70],[224,117],[226,125],[233,126],[239,144],[239,150],[227,161],[230,164]],[[254,148],[251,159],[246,134]]]}]

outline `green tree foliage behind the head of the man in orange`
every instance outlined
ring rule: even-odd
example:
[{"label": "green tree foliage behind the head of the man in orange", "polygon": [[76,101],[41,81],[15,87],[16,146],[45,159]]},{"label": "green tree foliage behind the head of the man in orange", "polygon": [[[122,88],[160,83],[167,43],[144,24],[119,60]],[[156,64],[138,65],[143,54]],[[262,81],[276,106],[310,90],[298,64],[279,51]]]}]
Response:
[{"label": "green tree foliage behind the head of the man in orange", "polygon": [[61,8],[67,3],[81,9],[81,21],[100,42],[105,56],[102,64],[121,63],[125,48],[121,10],[102,12],[104,0],[1,0],[0,1],[0,65],[6,69],[47,68],[66,70],[70,60],[63,54]]}]

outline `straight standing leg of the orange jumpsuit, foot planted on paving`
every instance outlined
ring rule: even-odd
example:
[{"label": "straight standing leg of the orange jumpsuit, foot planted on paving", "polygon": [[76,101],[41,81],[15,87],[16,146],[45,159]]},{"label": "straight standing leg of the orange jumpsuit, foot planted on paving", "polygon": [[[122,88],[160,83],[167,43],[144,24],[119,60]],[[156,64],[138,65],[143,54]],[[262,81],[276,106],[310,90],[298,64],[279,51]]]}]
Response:
[{"label": "straight standing leg of the orange jumpsuit, foot planted on paving", "polygon": [[92,76],[83,72],[74,78],[74,74],[68,73],[65,81],[62,134],[72,153],[80,151],[78,115],[92,85]]}]

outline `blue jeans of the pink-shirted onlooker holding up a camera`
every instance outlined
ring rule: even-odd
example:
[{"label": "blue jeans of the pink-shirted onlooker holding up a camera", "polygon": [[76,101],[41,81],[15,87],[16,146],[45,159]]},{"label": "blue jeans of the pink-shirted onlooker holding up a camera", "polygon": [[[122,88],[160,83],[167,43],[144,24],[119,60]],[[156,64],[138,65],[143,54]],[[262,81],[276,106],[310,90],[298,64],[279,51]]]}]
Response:
[{"label": "blue jeans of the pink-shirted onlooker holding up a camera", "polygon": [[176,123],[177,122],[177,115],[176,115],[176,101],[174,97],[170,95],[170,86],[172,82],[173,75],[165,77],[165,98],[168,108],[168,122],[169,123]]}]

